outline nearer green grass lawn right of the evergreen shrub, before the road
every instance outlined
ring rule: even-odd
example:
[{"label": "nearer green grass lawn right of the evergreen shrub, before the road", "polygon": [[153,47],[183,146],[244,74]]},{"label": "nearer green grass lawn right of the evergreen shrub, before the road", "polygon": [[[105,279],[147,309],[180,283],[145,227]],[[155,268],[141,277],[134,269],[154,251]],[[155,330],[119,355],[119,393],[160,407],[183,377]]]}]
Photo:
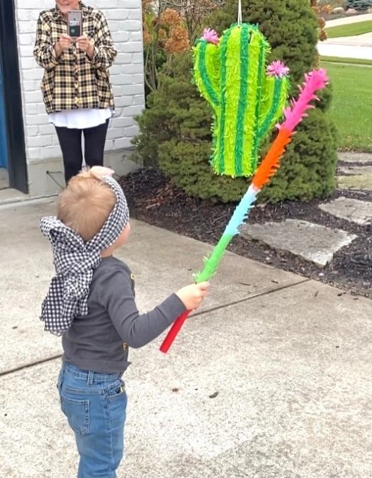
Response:
[{"label": "nearer green grass lawn right of the evergreen shrub, before the road", "polygon": [[329,115],[342,149],[372,152],[372,68],[321,62],[333,85]]}]

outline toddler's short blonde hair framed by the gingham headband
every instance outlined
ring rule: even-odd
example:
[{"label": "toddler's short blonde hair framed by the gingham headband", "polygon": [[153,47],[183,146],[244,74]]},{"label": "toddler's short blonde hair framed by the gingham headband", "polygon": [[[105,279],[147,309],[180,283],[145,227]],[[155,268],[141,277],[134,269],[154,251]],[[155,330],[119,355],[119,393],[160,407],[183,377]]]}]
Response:
[{"label": "toddler's short blonde hair framed by the gingham headband", "polygon": [[102,228],[115,203],[115,193],[107,183],[90,170],[81,171],[60,194],[57,217],[87,242]]}]

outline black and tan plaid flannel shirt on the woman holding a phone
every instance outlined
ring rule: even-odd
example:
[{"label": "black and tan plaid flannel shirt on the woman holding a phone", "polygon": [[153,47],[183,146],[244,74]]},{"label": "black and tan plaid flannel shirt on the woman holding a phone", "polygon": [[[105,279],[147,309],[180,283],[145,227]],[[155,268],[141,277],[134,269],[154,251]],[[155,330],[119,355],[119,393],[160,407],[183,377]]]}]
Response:
[{"label": "black and tan plaid flannel shirt on the woman holding a phone", "polygon": [[75,44],[57,58],[54,45],[67,23],[60,10],[42,11],[38,18],[35,48],[36,62],[45,69],[41,91],[47,113],[79,108],[114,108],[108,68],[117,55],[103,13],[80,4],[83,34],[94,44],[90,60]]}]

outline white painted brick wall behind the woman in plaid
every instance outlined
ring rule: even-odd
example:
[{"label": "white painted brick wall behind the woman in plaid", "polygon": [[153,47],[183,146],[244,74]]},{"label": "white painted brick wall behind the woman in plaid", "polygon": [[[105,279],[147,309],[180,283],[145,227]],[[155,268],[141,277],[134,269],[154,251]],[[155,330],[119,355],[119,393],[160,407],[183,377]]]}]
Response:
[{"label": "white painted brick wall behind the woman in plaid", "polygon": [[[86,0],[86,5],[99,8],[105,14],[113,35],[118,56],[110,69],[115,97],[115,116],[108,130],[105,151],[118,152],[131,146],[130,140],[137,135],[135,116],[145,105],[141,0]],[[43,69],[33,59],[36,21],[40,11],[52,8],[54,0],[16,0],[18,50],[20,62],[21,91],[23,98],[23,122],[25,130],[28,176],[32,178],[33,164],[45,162],[45,171],[50,169],[50,160],[61,158],[60,147],[54,127],[48,122],[40,92]],[[123,8],[125,6],[125,8]],[[116,157],[118,154],[116,154]],[[62,163],[60,162],[59,165]],[[127,168],[128,169],[128,168]],[[35,168],[36,170],[36,168]],[[120,173],[120,171],[118,171]],[[32,181],[31,181],[32,182]],[[52,187],[52,184],[51,184]],[[33,195],[50,193],[50,190],[35,190]]]}]

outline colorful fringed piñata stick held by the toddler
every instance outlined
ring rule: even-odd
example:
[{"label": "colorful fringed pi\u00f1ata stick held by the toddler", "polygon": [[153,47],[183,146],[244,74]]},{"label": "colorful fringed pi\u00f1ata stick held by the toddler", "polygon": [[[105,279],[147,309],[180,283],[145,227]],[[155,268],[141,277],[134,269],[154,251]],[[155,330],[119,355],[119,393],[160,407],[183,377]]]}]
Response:
[{"label": "colorful fringed pi\u00f1ata stick held by the toddler", "polygon": [[[203,271],[196,274],[196,283],[200,283],[203,280],[210,280],[220,264],[223,254],[225,254],[227,246],[230,244],[232,238],[239,233],[239,227],[247,219],[249,209],[257,198],[257,194],[261,188],[270,181],[271,176],[276,173],[280,166],[280,159],[286,148],[288,142],[291,141],[291,137],[295,127],[300,123],[302,118],[307,116],[306,110],[314,108],[310,105],[310,101],[318,99],[315,95],[315,91],[325,88],[327,84],[327,74],[325,69],[315,69],[309,74],[305,75],[305,83],[303,86],[299,86],[300,96],[297,101],[292,100],[291,106],[288,106],[284,110],[285,120],[281,125],[278,125],[278,136],[274,140],[269,152],[257,169],[252,183],[250,184],[247,193],[244,194],[242,200],[237,205],[222,237],[218,241],[218,244],[212,251],[212,254],[205,260]],[[184,312],[169,330],[167,337],[164,339],[160,351],[166,353],[171,346],[171,343],[176,338],[181,326],[187,319],[190,311]]]}]

